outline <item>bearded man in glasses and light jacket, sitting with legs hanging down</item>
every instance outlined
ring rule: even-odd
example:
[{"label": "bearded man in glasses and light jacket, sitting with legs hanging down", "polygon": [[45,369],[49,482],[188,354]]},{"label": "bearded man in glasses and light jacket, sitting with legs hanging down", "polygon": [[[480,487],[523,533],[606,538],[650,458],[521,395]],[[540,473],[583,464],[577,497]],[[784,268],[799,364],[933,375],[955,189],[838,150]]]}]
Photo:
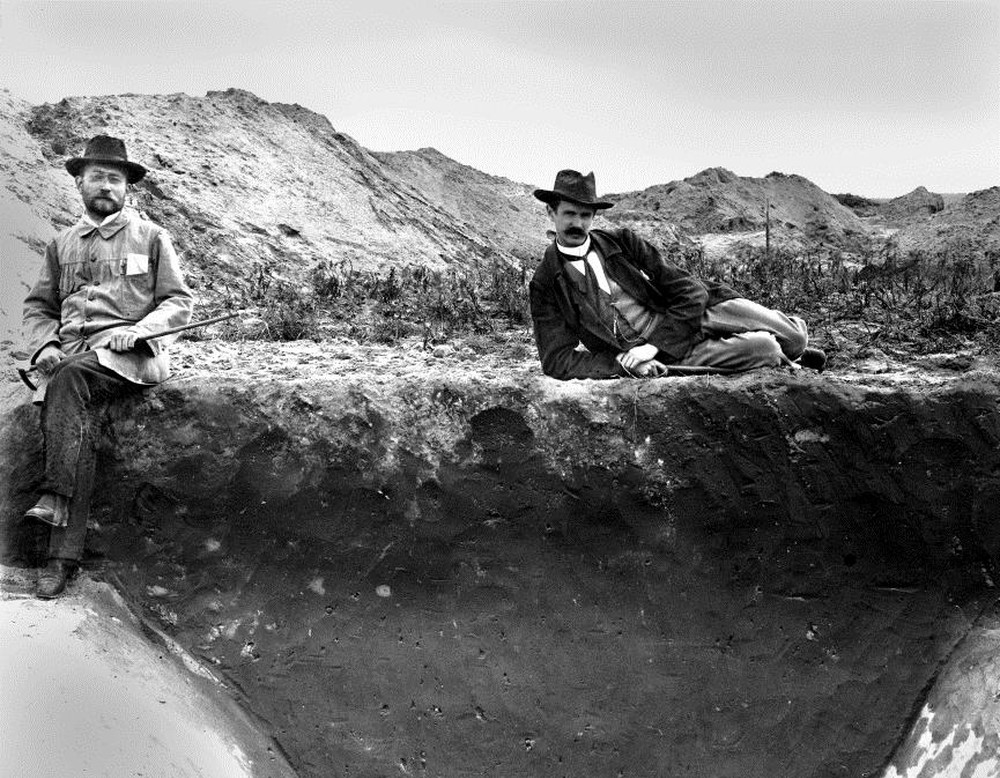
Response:
[{"label": "bearded man in glasses and light jacket, sitting with legs hanging down", "polygon": [[63,590],[83,556],[97,412],[167,378],[169,339],[141,338],[187,324],[193,307],[169,235],[124,209],[127,185],[146,174],[129,161],[124,142],[98,135],[66,169],[84,214],[49,244],[24,302],[25,341],[43,378],[35,400],[42,402],[45,474],[38,503],[25,514],[51,526],[38,578],[43,598]]}]

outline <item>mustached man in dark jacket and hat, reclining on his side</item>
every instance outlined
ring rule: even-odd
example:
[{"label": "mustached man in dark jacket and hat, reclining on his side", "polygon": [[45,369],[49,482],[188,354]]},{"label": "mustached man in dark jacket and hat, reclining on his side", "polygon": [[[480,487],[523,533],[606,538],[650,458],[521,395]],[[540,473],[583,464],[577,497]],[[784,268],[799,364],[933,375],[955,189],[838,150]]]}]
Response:
[{"label": "mustached man in dark jacket and hat, reclining on his side", "polygon": [[[531,318],[542,370],[553,378],[658,376],[668,367],[752,370],[798,364],[822,370],[798,316],[704,283],[628,229],[592,229],[594,174],[561,170],[536,189],[556,239],[531,279]],[[579,348],[580,344],[586,350]]]}]

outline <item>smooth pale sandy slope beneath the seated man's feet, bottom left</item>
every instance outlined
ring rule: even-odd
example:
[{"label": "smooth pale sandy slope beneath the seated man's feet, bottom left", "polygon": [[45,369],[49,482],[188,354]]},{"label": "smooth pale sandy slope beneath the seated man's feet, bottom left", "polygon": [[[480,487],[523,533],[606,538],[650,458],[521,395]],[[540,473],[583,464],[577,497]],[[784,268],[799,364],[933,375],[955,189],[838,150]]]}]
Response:
[{"label": "smooth pale sandy slope beneath the seated man's feet, bottom left", "polygon": [[107,584],[82,577],[42,601],[34,571],[2,572],[0,776],[293,775],[212,680],[143,636]]}]

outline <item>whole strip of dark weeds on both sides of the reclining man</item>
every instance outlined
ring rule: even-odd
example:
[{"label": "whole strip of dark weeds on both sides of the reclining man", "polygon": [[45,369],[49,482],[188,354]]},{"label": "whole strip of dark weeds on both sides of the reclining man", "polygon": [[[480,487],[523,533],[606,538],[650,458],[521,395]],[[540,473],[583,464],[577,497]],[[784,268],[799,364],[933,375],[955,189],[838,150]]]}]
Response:
[{"label": "whole strip of dark weeds on both sides of the reclining man", "polygon": [[[933,252],[904,253],[890,240],[858,253],[741,245],[714,261],[679,246],[668,254],[698,277],[806,317],[820,345],[849,359],[871,348],[916,354],[975,345],[995,353],[1000,343],[1000,251],[967,238]],[[383,344],[417,339],[424,347],[471,338],[489,348],[491,339],[513,333],[526,342],[528,277],[525,268],[500,259],[479,268],[387,274],[324,262],[301,282],[260,267],[240,302],[257,316],[236,335]]]}]

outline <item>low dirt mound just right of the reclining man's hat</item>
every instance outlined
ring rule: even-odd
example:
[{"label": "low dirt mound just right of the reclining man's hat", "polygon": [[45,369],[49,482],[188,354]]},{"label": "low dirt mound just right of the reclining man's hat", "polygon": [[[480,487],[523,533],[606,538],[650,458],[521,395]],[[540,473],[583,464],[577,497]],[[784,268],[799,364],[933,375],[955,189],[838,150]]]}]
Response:
[{"label": "low dirt mound just right of the reclining man's hat", "polygon": [[639,225],[662,220],[688,235],[763,231],[768,207],[775,240],[848,248],[866,233],[858,216],[833,196],[802,176],[783,173],[746,178],[710,168],[682,181],[609,199],[619,211],[609,212],[611,219],[626,218]]}]

